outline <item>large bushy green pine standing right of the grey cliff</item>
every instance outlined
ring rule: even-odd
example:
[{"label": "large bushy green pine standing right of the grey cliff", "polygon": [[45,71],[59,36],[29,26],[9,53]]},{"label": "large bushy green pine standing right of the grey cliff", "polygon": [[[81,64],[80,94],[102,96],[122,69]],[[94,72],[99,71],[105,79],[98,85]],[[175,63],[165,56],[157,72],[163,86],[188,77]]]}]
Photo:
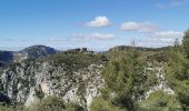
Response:
[{"label": "large bushy green pine standing right of the grey cliff", "polygon": [[145,70],[138,57],[138,51],[133,47],[128,50],[125,58],[111,60],[102,71],[106,82],[105,90],[108,91],[102,94],[113,105],[126,108],[129,111],[135,110],[135,103],[143,90],[140,88],[145,82],[142,73]]}]

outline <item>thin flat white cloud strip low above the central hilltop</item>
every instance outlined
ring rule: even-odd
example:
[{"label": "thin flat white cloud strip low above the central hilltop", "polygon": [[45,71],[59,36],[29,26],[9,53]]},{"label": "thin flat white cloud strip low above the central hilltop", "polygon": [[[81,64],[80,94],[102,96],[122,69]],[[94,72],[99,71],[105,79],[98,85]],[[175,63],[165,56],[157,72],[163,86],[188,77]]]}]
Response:
[{"label": "thin flat white cloud strip low above the central hilltop", "polygon": [[90,41],[90,40],[111,40],[117,38],[112,33],[92,33],[92,34],[72,34],[71,40],[72,41]]}]

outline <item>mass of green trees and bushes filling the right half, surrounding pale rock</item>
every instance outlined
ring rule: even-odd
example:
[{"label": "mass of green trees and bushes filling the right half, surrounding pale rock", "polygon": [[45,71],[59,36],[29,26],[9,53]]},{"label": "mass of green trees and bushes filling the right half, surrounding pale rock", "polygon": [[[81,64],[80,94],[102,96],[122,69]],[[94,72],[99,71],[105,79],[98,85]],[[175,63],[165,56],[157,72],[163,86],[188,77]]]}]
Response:
[{"label": "mass of green trees and bushes filling the right half, surrounding pale rock", "polygon": [[[102,95],[92,102],[91,111],[186,111],[189,107],[189,30],[182,43],[176,40],[167,50],[153,52],[127,50],[119,58],[112,58],[102,74],[106,81]],[[123,49],[123,48],[122,48]],[[140,53],[140,56],[138,56]],[[111,54],[112,56],[112,54]],[[142,59],[140,59],[142,58]],[[145,61],[163,63],[168,85],[175,91],[169,95],[163,91],[138,101],[149,85],[150,75],[142,74]],[[156,81],[155,79],[151,81]]]}]

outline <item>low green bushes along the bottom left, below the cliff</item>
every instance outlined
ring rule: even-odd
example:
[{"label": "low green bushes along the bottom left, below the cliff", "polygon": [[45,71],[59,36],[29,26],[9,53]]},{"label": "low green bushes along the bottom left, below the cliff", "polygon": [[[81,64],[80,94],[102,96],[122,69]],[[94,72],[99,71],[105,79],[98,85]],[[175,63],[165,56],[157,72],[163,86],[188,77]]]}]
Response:
[{"label": "low green bushes along the bottom left, below the cliff", "polygon": [[60,97],[51,95],[31,104],[29,108],[24,108],[23,105],[1,105],[0,111],[86,111],[86,109],[80,107],[79,103],[64,103]]}]

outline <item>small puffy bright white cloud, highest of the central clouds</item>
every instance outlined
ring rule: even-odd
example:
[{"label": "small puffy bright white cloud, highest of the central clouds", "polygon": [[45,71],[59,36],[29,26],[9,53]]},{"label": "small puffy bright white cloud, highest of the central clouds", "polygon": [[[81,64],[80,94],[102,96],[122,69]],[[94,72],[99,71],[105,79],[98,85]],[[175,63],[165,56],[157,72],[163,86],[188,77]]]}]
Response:
[{"label": "small puffy bright white cloud, highest of the central clouds", "polygon": [[106,16],[96,17],[94,20],[87,23],[88,27],[99,28],[110,26],[110,21]]}]

